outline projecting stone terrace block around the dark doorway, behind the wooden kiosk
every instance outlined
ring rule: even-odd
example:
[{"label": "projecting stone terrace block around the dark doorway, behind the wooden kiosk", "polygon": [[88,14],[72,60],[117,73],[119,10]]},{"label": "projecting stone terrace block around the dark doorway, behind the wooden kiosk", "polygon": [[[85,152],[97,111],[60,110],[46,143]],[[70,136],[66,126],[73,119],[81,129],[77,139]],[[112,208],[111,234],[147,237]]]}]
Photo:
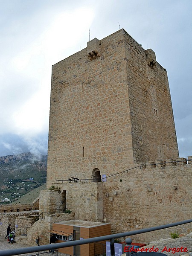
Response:
[{"label": "projecting stone terrace block around the dark doorway, behind the wooden kiosk", "polygon": [[65,182],[63,185],[58,185],[61,187],[61,191],[44,190],[40,192],[40,214],[43,212],[43,215],[48,215],[50,212],[57,212],[59,202],[62,201],[62,191],[66,191],[66,208],[75,213],[76,219],[103,221],[102,183],[83,181],[81,183]]}]

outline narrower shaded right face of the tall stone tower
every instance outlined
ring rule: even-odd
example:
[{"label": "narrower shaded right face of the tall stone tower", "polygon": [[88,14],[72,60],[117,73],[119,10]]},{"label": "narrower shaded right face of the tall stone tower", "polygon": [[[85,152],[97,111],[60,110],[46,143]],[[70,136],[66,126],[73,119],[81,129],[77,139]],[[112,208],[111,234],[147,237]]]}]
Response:
[{"label": "narrower shaded right face of the tall stone tower", "polygon": [[[127,32],[125,56],[135,162],[179,157],[166,70]],[[155,66],[148,65],[148,55]],[[147,55],[147,56],[146,56]]]}]

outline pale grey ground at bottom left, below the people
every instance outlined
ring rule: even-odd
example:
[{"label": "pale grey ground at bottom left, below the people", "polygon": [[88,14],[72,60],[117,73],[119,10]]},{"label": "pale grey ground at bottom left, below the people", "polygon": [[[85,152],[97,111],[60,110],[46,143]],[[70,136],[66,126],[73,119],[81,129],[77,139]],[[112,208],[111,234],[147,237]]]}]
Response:
[{"label": "pale grey ground at bottom left, below the people", "polygon": [[[31,247],[30,245],[26,245],[26,244],[9,244],[7,239],[5,239],[4,236],[0,236],[0,251],[2,250],[11,250],[11,249],[18,249],[18,248],[24,248],[24,247]],[[41,254],[40,254],[41,253]],[[26,253],[26,254],[19,254],[20,256],[36,256],[36,255],[40,255],[40,256],[51,256],[51,255],[55,255],[55,256],[68,256],[66,254],[63,253],[58,253],[57,250],[55,250],[55,253],[46,253],[46,252],[38,252],[37,253]]]}]

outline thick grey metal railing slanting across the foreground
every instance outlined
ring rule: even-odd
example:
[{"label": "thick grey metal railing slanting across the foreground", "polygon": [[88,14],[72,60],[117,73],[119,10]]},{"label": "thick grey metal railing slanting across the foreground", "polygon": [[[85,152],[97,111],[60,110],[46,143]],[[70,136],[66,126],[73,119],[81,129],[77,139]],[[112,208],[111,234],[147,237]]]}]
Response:
[{"label": "thick grey metal railing slanting across the foreground", "polygon": [[34,252],[41,252],[45,250],[51,250],[51,249],[59,249],[59,248],[65,248],[65,247],[71,247],[71,246],[76,246],[76,245],[81,245],[81,244],[90,244],[90,243],[95,243],[95,242],[100,242],[100,241],[105,241],[105,240],[110,240],[110,247],[111,247],[111,256],[115,255],[115,250],[114,250],[114,239],[116,238],[121,238],[125,236],[133,236],[137,234],[142,234],[142,233],[147,233],[155,230],[162,230],[165,228],[169,227],[175,227],[187,223],[191,223],[192,219],[185,220],[185,221],[179,221],[171,224],[165,224],[162,226],[157,226],[157,227],[149,227],[141,230],[134,230],[130,232],[124,232],[124,233],[119,233],[119,234],[113,234],[113,235],[108,235],[108,236],[99,236],[99,237],[94,237],[94,238],[89,238],[89,239],[82,239],[82,240],[76,240],[76,241],[69,241],[69,242],[63,242],[63,243],[58,243],[58,244],[47,244],[47,245],[40,245],[40,246],[35,246],[35,247],[26,247],[26,248],[19,248],[19,249],[12,249],[12,250],[2,250],[0,251],[0,256],[12,256],[12,255],[18,255],[18,254],[24,254],[24,253],[34,253]]}]

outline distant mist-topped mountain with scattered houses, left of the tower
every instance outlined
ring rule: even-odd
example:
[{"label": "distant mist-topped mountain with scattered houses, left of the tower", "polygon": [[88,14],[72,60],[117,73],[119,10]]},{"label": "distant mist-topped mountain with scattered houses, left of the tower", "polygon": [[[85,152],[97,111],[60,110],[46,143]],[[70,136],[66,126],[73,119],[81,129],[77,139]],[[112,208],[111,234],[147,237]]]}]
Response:
[{"label": "distant mist-topped mountain with scattered houses, left of the tower", "polygon": [[22,153],[0,157],[0,204],[46,183],[47,155]]}]

